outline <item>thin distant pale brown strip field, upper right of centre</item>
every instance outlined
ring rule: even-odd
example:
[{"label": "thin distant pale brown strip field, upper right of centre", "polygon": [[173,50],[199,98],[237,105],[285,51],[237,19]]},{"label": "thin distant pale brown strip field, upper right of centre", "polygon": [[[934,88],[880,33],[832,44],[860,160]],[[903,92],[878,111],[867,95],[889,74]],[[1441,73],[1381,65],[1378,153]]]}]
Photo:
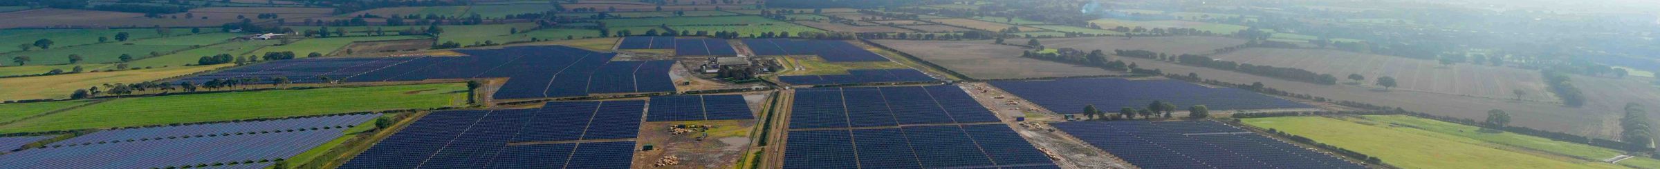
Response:
[{"label": "thin distant pale brown strip field, upper right of centre", "polygon": [[[1013,43],[1024,43],[1026,40],[1004,40]],[[1089,36],[1089,38],[1041,38],[1038,40],[1047,48],[1077,48],[1077,50],[1102,50],[1112,53],[1112,50],[1147,50],[1167,55],[1207,55],[1213,53],[1217,48],[1228,48],[1245,45],[1245,40],[1238,38],[1222,38],[1222,36]]]}]

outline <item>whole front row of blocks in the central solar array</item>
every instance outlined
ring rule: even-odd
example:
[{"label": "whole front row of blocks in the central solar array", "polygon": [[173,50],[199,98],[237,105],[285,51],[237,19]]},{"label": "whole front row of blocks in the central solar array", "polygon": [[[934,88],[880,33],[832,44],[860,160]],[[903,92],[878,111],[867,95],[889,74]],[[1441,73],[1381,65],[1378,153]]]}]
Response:
[{"label": "whole front row of blocks in the central solar array", "polygon": [[1059,169],[1006,124],[790,131],[784,169]]}]

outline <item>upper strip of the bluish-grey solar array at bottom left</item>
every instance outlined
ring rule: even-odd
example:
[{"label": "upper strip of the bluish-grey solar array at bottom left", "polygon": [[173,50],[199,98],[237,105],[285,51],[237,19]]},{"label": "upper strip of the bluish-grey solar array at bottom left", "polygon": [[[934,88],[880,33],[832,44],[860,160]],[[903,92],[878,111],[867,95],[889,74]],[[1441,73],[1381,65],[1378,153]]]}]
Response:
[{"label": "upper strip of the bluish-grey solar array at bottom left", "polygon": [[380,114],[340,114],[340,116],[274,119],[274,121],[239,121],[239,123],[111,129],[111,131],[98,131],[85,136],[76,136],[65,141],[56,141],[53,142],[53,146],[78,146],[78,144],[85,146],[85,144],[101,144],[101,142],[148,141],[148,139],[169,139],[169,138],[209,136],[209,134],[224,136],[224,134],[244,134],[244,133],[252,134],[252,133],[297,131],[297,129],[352,128],[355,124],[362,124],[378,116]]}]

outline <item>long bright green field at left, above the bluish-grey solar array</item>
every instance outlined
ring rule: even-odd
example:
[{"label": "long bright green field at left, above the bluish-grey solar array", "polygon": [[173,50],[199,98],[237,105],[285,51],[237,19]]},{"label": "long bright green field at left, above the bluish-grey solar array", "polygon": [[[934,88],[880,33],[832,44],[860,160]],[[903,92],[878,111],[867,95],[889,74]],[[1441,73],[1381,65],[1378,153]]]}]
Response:
[{"label": "long bright green field at left, above the bluish-grey solar array", "polygon": [[466,84],[405,84],[116,98],[0,126],[0,133],[148,126],[460,106]]}]

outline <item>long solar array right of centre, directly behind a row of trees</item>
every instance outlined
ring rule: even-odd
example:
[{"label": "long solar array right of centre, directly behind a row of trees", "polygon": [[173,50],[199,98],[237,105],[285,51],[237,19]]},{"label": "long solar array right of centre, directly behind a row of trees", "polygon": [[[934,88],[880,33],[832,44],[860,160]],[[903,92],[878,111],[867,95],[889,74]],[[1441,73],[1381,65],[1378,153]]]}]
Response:
[{"label": "long solar array right of centre, directly behind a row of trees", "polygon": [[1207,88],[1177,80],[1067,78],[1046,81],[991,81],[1056,113],[1081,113],[1094,104],[1116,111],[1145,108],[1152,101],[1177,106],[1205,104],[1210,109],[1313,108],[1235,88]]}]

